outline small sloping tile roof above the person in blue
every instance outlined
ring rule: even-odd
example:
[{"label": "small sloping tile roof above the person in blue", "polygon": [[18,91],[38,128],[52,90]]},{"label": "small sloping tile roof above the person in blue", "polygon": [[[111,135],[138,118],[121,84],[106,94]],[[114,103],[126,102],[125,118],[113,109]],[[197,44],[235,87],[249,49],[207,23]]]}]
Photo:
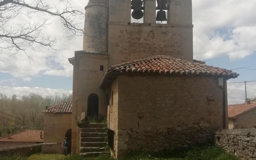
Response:
[{"label": "small sloping tile roof above the person in blue", "polygon": [[43,113],[70,114],[72,113],[72,100],[47,108]]}]

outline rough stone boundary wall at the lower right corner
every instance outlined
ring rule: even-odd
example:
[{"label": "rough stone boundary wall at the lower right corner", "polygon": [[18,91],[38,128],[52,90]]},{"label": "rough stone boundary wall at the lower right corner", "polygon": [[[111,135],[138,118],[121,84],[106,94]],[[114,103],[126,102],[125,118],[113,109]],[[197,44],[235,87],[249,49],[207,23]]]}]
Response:
[{"label": "rough stone boundary wall at the lower right corner", "polygon": [[242,160],[256,160],[256,129],[219,130],[215,144]]}]

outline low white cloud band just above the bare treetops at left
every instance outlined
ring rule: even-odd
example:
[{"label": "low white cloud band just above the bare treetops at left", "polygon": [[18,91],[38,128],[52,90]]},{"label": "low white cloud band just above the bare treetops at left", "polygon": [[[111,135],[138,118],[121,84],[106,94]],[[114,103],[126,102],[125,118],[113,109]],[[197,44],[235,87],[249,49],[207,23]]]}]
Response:
[{"label": "low white cloud band just above the bare treetops at left", "polygon": [[41,96],[54,96],[64,94],[72,94],[72,91],[62,90],[62,89],[51,89],[51,88],[40,88],[40,87],[8,87],[2,86],[0,88],[0,93],[4,93],[7,97],[12,97],[13,94],[16,94],[18,98],[21,98],[22,95],[28,95],[29,93],[37,93]]}]

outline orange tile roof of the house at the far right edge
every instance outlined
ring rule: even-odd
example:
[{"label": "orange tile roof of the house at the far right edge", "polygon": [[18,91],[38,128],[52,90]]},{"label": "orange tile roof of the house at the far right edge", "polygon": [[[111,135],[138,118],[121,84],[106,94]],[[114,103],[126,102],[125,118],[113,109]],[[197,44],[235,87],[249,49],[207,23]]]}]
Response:
[{"label": "orange tile roof of the house at the far right edge", "polygon": [[228,105],[228,117],[235,118],[236,116],[251,111],[256,108],[256,102],[245,105],[245,104],[236,104]]}]

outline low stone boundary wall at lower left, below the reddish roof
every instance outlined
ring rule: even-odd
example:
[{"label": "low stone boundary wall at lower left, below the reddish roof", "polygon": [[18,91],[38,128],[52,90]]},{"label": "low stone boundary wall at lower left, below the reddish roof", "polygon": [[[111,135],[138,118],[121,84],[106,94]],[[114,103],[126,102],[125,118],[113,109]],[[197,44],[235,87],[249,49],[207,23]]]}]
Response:
[{"label": "low stone boundary wall at lower left, below the reddish roof", "polygon": [[38,144],[32,144],[27,146],[1,148],[0,155],[1,156],[10,156],[10,155],[29,156],[34,153],[40,153],[42,151],[42,146],[52,146],[52,145],[55,145],[55,143],[38,143]]}]

